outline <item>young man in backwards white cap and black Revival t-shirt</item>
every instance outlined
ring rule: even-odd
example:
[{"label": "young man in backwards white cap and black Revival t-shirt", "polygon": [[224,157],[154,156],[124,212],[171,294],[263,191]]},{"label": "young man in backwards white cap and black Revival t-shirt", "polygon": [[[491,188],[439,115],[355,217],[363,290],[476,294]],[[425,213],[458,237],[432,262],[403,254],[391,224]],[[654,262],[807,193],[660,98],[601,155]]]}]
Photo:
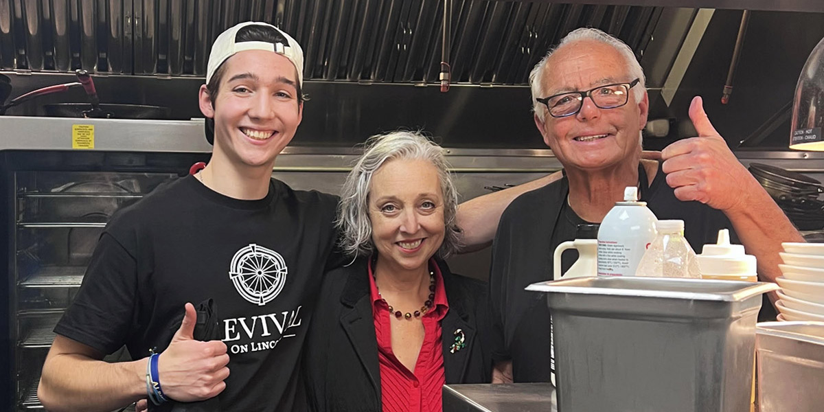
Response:
[{"label": "young man in backwards white cap and black Revival t-shirt", "polygon": [[[55,328],[39,389],[47,409],[213,396],[224,411],[301,409],[299,353],[334,259],[337,205],[271,178],[302,119],[302,60],[297,42],[266,23],[215,40],[199,91],[212,158],[105,228]],[[209,299],[219,336],[202,342],[190,303]],[[137,360],[101,361],[124,344]]]}]

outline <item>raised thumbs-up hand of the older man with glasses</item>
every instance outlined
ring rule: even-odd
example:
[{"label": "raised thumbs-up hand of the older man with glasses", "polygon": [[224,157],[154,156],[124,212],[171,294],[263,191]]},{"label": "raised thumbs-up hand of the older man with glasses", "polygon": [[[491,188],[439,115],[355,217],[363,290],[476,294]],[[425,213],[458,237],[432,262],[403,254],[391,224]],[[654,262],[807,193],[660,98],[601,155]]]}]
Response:
[{"label": "raised thumbs-up hand of the older man with glasses", "polygon": [[761,190],[761,185],[709,122],[700,96],[692,99],[690,119],[698,136],[672,143],[661,152],[667,185],[682,201],[697,200],[723,212],[744,207],[750,190],[755,186]]}]

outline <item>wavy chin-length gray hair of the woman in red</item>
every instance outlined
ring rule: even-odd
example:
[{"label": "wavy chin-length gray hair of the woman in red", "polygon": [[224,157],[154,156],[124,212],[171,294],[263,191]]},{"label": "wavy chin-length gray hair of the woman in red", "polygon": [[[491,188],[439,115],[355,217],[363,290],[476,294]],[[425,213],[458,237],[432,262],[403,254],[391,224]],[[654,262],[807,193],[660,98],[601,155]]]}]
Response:
[{"label": "wavy chin-length gray hair of the woman in red", "polygon": [[424,160],[438,169],[438,180],[443,196],[443,243],[437,255],[445,258],[460,246],[460,231],[456,226],[457,190],[452,184],[449,165],[438,144],[420,132],[396,131],[368,138],[363,156],[346,177],[340,194],[338,220],[339,245],[349,255],[370,255],[375,250],[372,242],[372,221],[369,219],[369,193],[372,176],[392,159]]}]

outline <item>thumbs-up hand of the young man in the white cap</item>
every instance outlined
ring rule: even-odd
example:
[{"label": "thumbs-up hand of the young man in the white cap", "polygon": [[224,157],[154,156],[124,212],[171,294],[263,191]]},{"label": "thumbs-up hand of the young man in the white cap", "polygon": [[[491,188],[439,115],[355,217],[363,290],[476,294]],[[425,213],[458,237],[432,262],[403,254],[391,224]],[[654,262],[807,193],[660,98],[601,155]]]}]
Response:
[{"label": "thumbs-up hand of the young man in the white cap", "polygon": [[172,400],[193,402],[218,396],[226,389],[229,355],[220,340],[201,342],[193,338],[197,312],[185,305],[180,329],[157,360],[163,393]]}]

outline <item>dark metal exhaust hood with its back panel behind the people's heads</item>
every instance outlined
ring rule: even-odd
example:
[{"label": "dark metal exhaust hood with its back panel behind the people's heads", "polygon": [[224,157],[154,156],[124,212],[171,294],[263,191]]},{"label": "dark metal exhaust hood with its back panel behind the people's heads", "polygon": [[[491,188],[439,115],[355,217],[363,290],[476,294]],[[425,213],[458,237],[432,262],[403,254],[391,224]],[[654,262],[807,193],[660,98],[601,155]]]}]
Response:
[{"label": "dark metal exhaust hood with its back panel behind the people's heads", "polygon": [[[669,121],[667,137],[647,147],[689,134],[681,126],[695,95],[705,96],[733,147],[741,140],[775,147],[786,141],[781,107],[809,54],[808,38],[810,49],[821,39],[816,12],[824,12],[821,0],[449,2],[448,63],[457,87],[448,93],[425,87],[439,80],[443,0],[0,0],[0,71],[13,74],[13,97],[85,68],[101,85],[101,101],[166,105],[175,119],[189,119],[201,116],[193,97],[214,37],[237,21],[269,21],[305,50],[304,91],[312,97],[298,135],[305,143],[351,146],[406,127],[451,147],[542,148],[528,73],[569,30],[592,26],[630,44],[648,77],[650,119]],[[735,95],[720,105],[715,96],[742,20],[723,9],[742,7],[767,12],[752,13]],[[36,103],[60,101],[85,96]],[[43,110],[27,104],[9,114]]]}]

